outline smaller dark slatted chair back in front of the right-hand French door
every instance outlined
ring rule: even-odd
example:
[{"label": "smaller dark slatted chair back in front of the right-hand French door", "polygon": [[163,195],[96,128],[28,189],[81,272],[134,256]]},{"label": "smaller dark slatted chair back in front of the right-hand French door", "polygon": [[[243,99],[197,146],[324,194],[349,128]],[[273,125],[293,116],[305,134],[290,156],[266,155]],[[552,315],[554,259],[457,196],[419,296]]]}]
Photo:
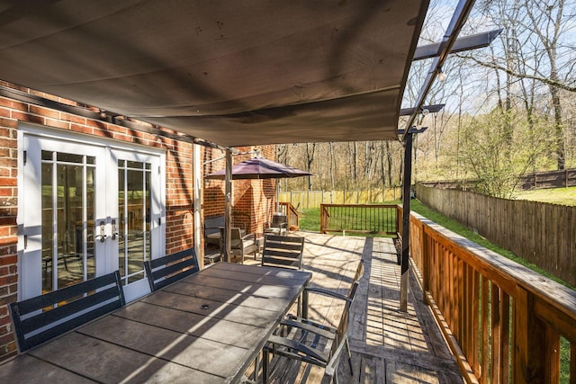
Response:
[{"label": "smaller dark slatted chair back in front of the right-hand French door", "polygon": [[150,290],[159,290],[188,275],[200,271],[194,248],[184,249],[144,263]]}]

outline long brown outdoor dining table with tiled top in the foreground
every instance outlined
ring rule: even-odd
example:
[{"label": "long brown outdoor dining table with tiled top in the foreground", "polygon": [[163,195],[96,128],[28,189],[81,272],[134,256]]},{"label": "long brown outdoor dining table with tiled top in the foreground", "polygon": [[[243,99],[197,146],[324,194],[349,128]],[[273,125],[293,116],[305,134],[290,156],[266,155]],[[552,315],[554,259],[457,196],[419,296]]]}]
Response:
[{"label": "long brown outdoor dining table with tiled top in the foreground", "polygon": [[0,382],[238,382],[310,279],[216,263],[0,365]]}]

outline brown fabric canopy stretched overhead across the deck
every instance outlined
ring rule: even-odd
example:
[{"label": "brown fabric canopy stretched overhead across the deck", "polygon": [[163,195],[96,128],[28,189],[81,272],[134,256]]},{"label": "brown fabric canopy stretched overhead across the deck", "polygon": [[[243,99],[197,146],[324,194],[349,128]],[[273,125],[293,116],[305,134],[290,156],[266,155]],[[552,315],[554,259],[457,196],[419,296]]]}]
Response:
[{"label": "brown fabric canopy stretched overhead across the deck", "polygon": [[428,1],[0,1],[0,78],[223,147],[397,139]]}]

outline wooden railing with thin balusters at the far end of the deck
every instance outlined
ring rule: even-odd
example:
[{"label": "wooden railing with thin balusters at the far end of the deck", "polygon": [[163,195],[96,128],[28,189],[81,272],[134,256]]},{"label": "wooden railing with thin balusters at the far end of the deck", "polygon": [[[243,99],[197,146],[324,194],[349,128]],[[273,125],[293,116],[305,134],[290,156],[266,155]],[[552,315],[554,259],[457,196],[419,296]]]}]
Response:
[{"label": "wooden railing with thin balusters at the far end of the deck", "polygon": [[396,236],[395,204],[321,204],[320,233],[342,232]]}]

